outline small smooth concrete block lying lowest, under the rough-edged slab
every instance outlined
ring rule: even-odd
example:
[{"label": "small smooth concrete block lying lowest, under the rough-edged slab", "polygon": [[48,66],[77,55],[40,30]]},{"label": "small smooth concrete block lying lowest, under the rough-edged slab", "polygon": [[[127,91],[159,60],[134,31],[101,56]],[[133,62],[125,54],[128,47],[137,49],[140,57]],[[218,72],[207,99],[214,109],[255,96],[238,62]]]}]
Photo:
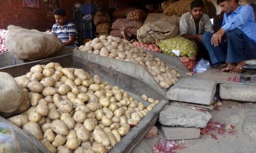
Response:
[{"label": "small smooth concrete block lying lowest, under the rough-edged slab", "polygon": [[161,131],[166,140],[184,140],[200,138],[200,128],[182,128],[161,126]]}]

